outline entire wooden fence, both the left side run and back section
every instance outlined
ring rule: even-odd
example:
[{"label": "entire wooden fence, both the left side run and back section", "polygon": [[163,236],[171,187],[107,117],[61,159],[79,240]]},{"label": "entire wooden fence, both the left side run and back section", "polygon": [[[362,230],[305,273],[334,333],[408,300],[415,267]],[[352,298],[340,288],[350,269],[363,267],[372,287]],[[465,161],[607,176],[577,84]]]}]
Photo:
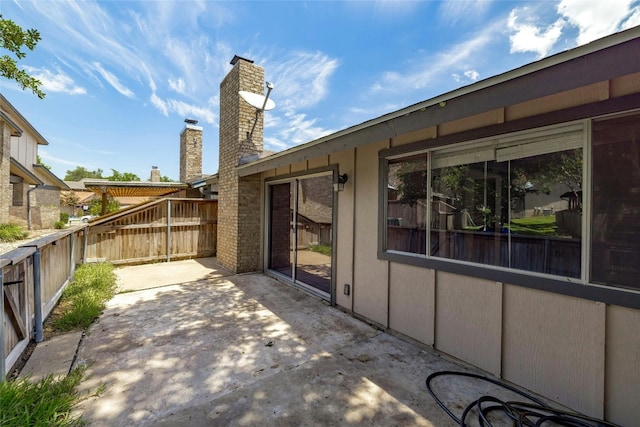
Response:
[{"label": "entire wooden fence, both the left side run and back section", "polygon": [[0,255],[0,381],[84,262],[140,264],[215,256],[218,202],[162,199],[60,231]]}]

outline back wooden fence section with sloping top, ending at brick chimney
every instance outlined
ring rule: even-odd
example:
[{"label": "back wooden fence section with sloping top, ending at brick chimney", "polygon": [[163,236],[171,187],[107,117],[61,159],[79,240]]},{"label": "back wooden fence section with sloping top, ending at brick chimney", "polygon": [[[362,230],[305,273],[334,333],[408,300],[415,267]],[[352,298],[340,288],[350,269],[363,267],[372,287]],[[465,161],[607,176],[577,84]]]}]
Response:
[{"label": "back wooden fence section with sloping top, ending at brick chimney", "polygon": [[92,222],[87,260],[137,264],[215,256],[217,225],[217,200],[157,200]]}]

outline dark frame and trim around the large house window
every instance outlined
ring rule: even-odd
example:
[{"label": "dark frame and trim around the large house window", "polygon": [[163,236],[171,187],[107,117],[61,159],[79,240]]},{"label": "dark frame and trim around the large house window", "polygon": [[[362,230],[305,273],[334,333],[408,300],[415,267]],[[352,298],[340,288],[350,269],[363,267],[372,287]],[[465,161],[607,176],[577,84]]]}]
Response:
[{"label": "dark frame and trim around the large house window", "polygon": [[[626,112],[625,114],[629,113],[630,112]],[[381,150],[379,152],[380,203],[378,212],[378,259],[640,309],[640,291],[617,287],[615,285],[599,285],[589,282],[589,272],[591,268],[591,123],[595,119],[601,120],[605,117],[611,118],[619,115],[621,114],[607,114],[606,116],[599,117],[585,117],[579,120],[557,123],[549,126],[525,128],[476,139],[470,139],[468,137],[465,138],[465,136],[469,135],[468,132],[465,132],[460,135],[458,140],[456,140],[455,137],[452,138],[452,136],[448,136]],[[409,157],[421,152],[427,152],[427,188],[430,192],[432,160],[434,158],[434,153],[442,154],[451,151],[452,155],[455,156],[455,152],[471,152],[471,150],[473,150],[475,147],[480,146],[481,144],[491,145],[492,141],[493,146],[497,147],[497,141],[500,140],[510,141],[515,139],[517,141],[519,140],[519,138],[522,138],[524,140],[527,137],[535,138],[536,135],[542,136],[547,132],[551,132],[551,134],[553,134],[554,131],[561,130],[563,128],[575,129],[576,127],[579,127],[582,132],[581,148],[583,155],[583,219],[581,224],[582,239],[580,242],[580,277],[570,278],[533,271],[516,270],[508,267],[505,268],[500,266],[488,266],[455,259],[434,257],[430,255],[429,251],[427,251],[426,255],[422,255],[399,251],[390,251],[386,249],[386,224],[388,204],[386,188],[388,182],[388,160]],[[430,197],[431,194],[429,193],[428,198]],[[426,221],[428,225],[431,224],[430,210],[427,210]],[[430,233],[429,230],[427,230],[427,232]]]}]

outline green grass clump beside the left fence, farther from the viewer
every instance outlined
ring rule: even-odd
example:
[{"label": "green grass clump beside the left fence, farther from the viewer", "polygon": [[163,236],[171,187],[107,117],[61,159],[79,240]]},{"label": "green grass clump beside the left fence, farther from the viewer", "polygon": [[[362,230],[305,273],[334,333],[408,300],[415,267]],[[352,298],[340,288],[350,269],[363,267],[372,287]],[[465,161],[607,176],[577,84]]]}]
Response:
[{"label": "green grass clump beside the left fence, farther from the viewer", "polygon": [[117,290],[113,264],[82,264],[62,293],[51,327],[58,332],[84,330],[96,320]]}]

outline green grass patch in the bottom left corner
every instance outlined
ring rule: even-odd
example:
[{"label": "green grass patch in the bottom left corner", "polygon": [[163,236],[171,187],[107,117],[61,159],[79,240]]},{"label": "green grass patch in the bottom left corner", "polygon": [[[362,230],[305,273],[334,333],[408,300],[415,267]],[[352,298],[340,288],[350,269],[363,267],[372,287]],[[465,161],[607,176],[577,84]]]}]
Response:
[{"label": "green grass patch in the bottom left corner", "polygon": [[28,378],[0,381],[0,425],[3,426],[81,426],[86,422],[71,413],[82,400],[75,391],[84,376],[78,368],[69,375],[49,375],[36,383]]}]

